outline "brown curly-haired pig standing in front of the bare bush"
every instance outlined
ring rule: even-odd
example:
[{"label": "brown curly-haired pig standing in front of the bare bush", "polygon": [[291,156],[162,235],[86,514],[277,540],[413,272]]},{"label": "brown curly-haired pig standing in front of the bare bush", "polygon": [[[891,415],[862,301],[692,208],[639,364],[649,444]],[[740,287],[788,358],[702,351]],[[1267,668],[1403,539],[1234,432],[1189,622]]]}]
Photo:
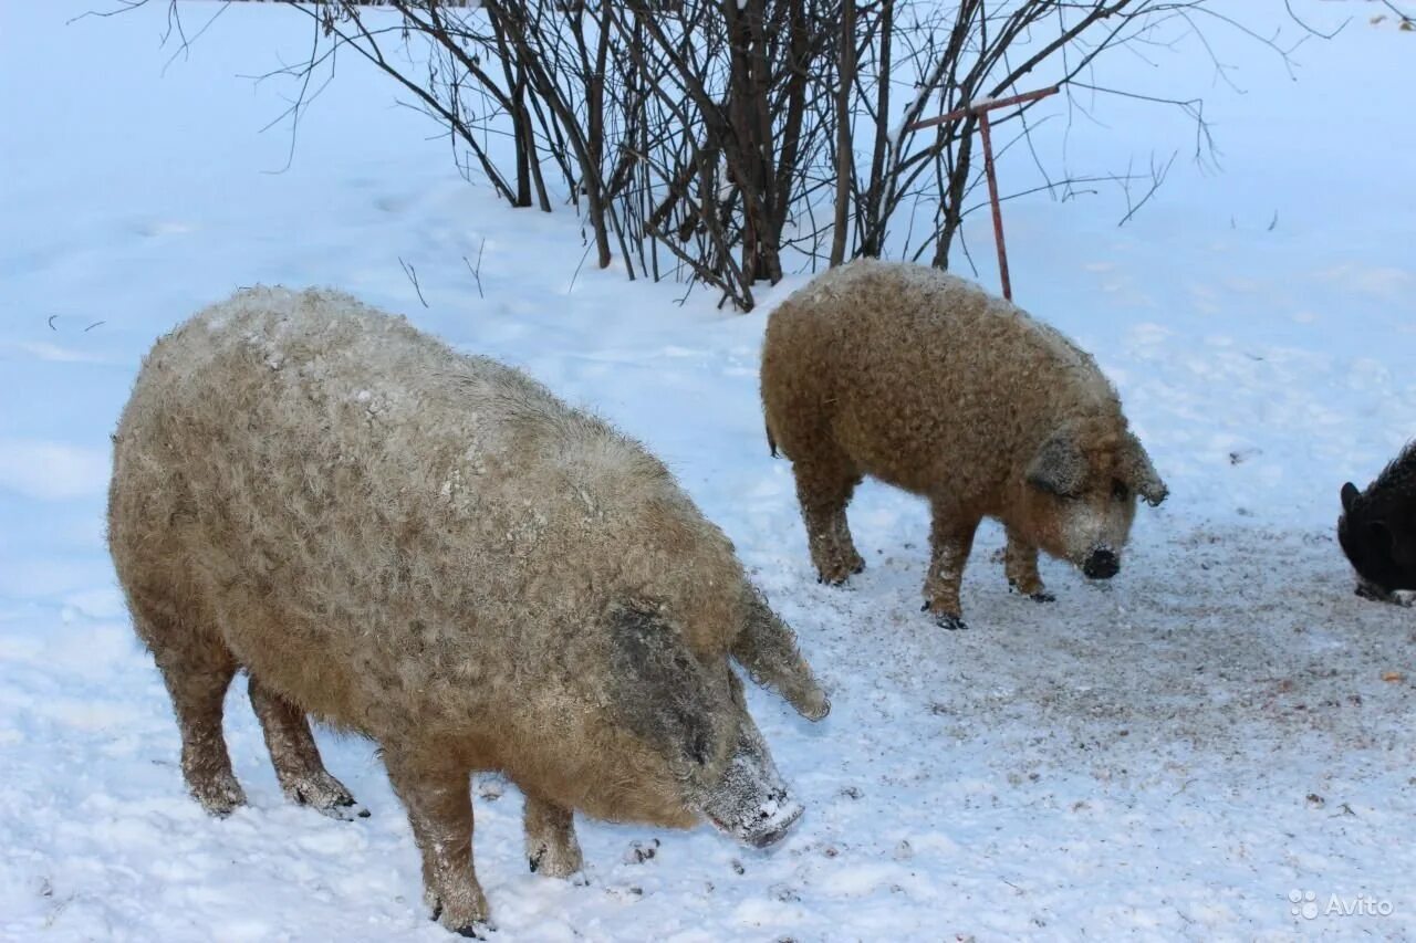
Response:
[{"label": "brown curly-haired pig standing in front of the bare bush", "polygon": [[1096,362],[1056,330],[932,268],[858,259],[777,307],[762,351],[773,455],[792,459],[811,561],[843,583],[865,561],[845,505],[862,476],[930,501],[925,609],[963,629],[959,583],[984,517],[1005,573],[1052,599],[1038,548],[1092,579],[1120,569],[1136,496],[1165,486]]}]

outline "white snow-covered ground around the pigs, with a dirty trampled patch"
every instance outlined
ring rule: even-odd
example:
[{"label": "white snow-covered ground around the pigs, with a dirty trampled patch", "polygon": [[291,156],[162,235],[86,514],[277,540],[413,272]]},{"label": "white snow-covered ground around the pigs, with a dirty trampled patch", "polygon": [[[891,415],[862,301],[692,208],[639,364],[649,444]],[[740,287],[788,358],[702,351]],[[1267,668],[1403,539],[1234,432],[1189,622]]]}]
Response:
[{"label": "white snow-covered ground around the pigs, with a dirty trampled patch", "polygon": [[[517,791],[479,783],[497,939],[1416,936],[1416,610],[1355,598],[1332,535],[1338,486],[1416,435],[1416,35],[1375,4],[1297,4],[1357,16],[1297,81],[1236,44],[1243,93],[1205,89],[1222,173],[1181,159],[1124,228],[1104,197],[1007,207],[1020,300],[1096,353],[1172,496],[1112,583],[1045,564],[1051,606],[1008,595],[986,530],[967,633],[918,612],[927,515],[898,491],[851,508],[869,569],[816,585],[756,401],[766,310],[803,276],[736,316],[576,272],[572,214],[460,180],[350,59],[278,173],[289,136],[258,130],[290,89],[241,76],[299,55],[300,17],[238,4],[164,71],[164,3],[69,23],[88,6],[0,1],[0,937],[446,939],[370,743],[320,735],[372,817],[290,807],[238,681],[251,806],[185,796],[115,586],[108,435],[139,360],[253,282],[351,290],[641,438],[831,690],[817,726],[752,695],[809,807],[770,852],[582,821],[586,879],[551,881]],[[1070,156],[1175,143],[1113,108]]]}]

